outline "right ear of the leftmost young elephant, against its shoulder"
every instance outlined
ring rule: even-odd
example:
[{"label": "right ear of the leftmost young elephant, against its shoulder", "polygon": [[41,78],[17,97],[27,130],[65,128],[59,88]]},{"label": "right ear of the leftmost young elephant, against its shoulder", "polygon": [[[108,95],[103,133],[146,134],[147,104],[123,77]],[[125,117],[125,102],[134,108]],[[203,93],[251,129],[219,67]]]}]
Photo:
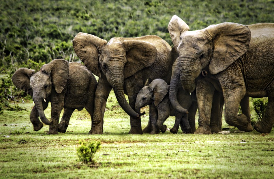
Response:
[{"label": "right ear of the leftmost young elephant, against its shoulder", "polygon": [[43,65],[40,70],[51,76],[55,91],[61,93],[70,75],[69,62],[63,59],[54,59],[50,63]]}]

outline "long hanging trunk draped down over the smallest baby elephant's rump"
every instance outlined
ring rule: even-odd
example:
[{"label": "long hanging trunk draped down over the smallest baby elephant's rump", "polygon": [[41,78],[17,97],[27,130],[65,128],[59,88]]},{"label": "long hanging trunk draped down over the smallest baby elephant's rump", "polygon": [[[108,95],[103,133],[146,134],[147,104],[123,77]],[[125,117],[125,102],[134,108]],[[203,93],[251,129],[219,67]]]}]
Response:
[{"label": "long hanging trunk draped down over the smallest baby elephant's rump", "polygon": [[172,107],[174,107],[178,112],[188,113],[187,109],[183,108],[177,99],[177,93],[180,88],[179,64],[179,58],[177,58],[172,67],[172,75],[169,86],[169,99]]}]

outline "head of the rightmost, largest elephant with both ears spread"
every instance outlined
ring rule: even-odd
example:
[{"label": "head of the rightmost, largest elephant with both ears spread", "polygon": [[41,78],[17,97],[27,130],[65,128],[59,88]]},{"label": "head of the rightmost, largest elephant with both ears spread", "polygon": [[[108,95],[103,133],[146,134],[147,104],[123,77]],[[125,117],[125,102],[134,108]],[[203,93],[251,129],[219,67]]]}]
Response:
[{"label": "head of the rightmost, largest elephant with both ears spread", "polygon": [[180,59],[180,79],[183,88],[192,92],[195,79],[207,67],[211,74],[225,70],[249,48],[251,32],[237,23],[211,25],[189,31],[187,24],[174,15],[168,24],[172,43]]}]

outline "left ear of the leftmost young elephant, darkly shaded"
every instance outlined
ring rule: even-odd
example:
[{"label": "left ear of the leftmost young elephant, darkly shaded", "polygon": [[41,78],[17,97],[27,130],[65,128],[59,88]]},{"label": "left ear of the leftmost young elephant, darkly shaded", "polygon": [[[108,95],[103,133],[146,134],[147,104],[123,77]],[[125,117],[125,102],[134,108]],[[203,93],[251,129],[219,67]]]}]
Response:
[{"label": "left ear of the leftmost young elephant, darkly shaded", "polygon": [[33,95],[33,91],[30,87],[30,77],[34,73],[34,70],[28,68],[19,68],[12,75],[13,84],[22,90],[24,90],[27,94]]}]

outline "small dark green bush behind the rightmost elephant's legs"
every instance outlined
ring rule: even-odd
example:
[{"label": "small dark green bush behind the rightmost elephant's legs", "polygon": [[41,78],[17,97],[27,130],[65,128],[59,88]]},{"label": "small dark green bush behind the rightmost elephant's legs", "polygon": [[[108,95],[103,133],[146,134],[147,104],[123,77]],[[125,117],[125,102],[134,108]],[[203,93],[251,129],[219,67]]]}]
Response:
[{"label": "small dark green bush behind the rightmost elephant's legs", "polygon": [[267,98],[255,98],[253,99],[253,109],[255,110],[256,119],[260,121],[264,116],[265,110],[267,109]]}]

